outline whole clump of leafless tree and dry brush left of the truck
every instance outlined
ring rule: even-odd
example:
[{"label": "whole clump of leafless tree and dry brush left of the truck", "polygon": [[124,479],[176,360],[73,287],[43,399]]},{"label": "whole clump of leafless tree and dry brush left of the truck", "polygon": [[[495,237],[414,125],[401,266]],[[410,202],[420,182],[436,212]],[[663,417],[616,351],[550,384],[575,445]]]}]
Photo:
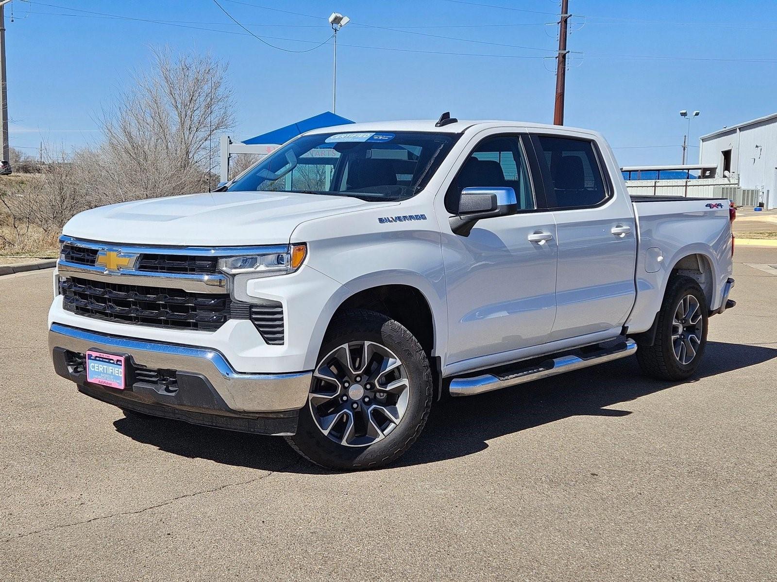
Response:
[{"label": "whole clump of leafless tree and dry brush left of the truck", "polygon": [[234,124],[226,73],[207,54],[153,50],[152,67],[103,113],[103,141],[46,153],[40,176],[0,189],[0,247],[55,246],[64,223],[93,206],[207,190],[214,137]]}]

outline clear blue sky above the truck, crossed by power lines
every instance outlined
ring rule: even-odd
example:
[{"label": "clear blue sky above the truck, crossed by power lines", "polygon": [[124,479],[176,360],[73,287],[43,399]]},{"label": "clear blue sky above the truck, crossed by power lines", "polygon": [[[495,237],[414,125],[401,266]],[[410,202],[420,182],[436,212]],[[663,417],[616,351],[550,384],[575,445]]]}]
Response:
[{"label": "clear blue sky above the truck, crossed by power lines", "polygon": [[[337,113],[350,119],[436,119],[450,110],[460,119],[552,122],[556,26],[545,23],[556,21],[557,2],[219,2],[257,35],[279,37],[267,42],[290,50],[325,41],[331,12],[350,16],[338,36],[337,92]],[[330,43],[304,54],[275,50],[230,24],[212,0],[13,0],[12,11],[14,22],[6,6],[12,146],[44,140],[77,147],[98,139],[96,115],[127,87],[127,71],[148,63],[151,45],[210,51],[228,62],[238,103],[235,137],[331,109]],[[702,133],[777,110],[773,0],[570,0],[570,12],[581,16],[572,20],[568,47],[576,52],[566,124],[605,133],[622,165],[679,163],[680,109],[702,112],[692,123],[693,145]],[[387,29],[400,27],[407,28]],[[692,161],[697,152],[692,148]]]}]

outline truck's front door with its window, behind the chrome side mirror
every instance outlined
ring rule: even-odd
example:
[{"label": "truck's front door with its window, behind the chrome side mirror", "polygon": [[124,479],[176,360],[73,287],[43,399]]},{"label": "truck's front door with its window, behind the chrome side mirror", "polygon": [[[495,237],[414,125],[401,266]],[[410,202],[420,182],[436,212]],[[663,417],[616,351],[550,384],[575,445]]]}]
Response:
[{"label": "truck's front door with its window, behind the chrome side mirror", "polygon": [[446,195],[452,213],[462,189],[511,187],[520,210],[480,220],[469,236],[443,234],[448,291],[448,363],[546,341],[556,315],[556,223],[538,211],[517,135],[486,137],[463,162]]}]

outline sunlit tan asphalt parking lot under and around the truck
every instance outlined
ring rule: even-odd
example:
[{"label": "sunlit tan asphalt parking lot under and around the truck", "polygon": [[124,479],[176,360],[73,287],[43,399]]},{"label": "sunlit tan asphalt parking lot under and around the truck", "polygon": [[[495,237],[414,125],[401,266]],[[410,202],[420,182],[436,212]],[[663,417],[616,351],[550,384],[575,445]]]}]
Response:
[{"label": "sunlit tan asphalt parking lot under and around the truck", "polygon": [[343,474],[82,396],[47,355],[51,270],[2,277],[0,580],[774,580],[777,248],[735,261],[687,383],[629,358],[451,400]]}]

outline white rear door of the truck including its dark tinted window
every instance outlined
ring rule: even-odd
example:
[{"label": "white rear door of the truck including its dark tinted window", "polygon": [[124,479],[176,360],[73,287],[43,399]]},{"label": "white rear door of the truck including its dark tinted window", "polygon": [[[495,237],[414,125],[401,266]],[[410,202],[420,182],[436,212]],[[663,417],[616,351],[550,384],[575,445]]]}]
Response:
[{"label": "white rear door of the truck including its dark tinted window", "polygon": [[636,227],[594,140],[534,135],[556,221],[556,321],[551,340],[621,327],[636,296]]}]

